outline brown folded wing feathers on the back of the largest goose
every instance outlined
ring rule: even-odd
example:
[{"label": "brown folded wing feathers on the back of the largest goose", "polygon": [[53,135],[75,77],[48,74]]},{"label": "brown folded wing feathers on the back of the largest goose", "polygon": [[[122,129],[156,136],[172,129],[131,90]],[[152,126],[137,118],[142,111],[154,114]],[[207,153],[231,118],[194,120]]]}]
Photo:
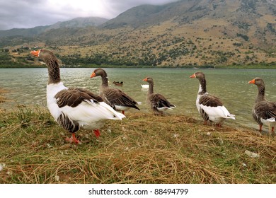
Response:
[{"label": "brown folded wing feathers on the back of the largest goose", "polygon": [[76,107],[85,100],[93,100],[95,103],[103,102],[103,98],[83,88],[69,88],[62,90],[54,96],[59,108],[64,106]]}]

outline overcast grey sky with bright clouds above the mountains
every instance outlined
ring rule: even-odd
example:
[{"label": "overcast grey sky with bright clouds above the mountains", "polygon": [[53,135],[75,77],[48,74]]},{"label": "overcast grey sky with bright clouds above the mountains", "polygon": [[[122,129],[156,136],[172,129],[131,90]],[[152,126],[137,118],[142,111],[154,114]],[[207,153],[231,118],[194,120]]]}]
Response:
[{"label": "overcast grey sky with bright clouds above the mountains", "polygon": [[76,17],[115,18],[142,4],[166,4],[177,0],[0,0],[0,30],[52,25]]}]

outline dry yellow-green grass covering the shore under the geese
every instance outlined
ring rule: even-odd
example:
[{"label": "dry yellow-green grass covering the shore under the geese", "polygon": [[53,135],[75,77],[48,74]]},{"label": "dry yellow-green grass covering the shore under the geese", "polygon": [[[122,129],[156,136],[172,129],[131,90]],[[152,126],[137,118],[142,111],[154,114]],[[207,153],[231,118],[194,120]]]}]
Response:
[{"label": "dry yellow-green grass covering the shore under the geese", "polygon": [[78,146],[45,107],[6,110],[0,129],[0,183],[276,183],[275,136],[184,115],[127,112]]}]

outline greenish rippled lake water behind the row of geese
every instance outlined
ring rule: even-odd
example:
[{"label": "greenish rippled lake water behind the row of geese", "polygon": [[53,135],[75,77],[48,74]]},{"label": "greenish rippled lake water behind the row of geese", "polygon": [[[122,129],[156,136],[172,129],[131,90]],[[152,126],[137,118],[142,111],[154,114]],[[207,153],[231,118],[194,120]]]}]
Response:
[{"label": "greenish rippled lake water behind the row of geese", "polygon": [[[87,88],[98,93],[100,77],[90,78],[94,69],[62,68],[61,76],[67,87]],[[195,107],[195,99],[199,81],[189,78],[195,71],[205,73],[207,91],[217,95],[231,114],[236,115],[236,121],[226,120],[227,124],[254,127],[258,129],[251,115],[257,87],[248,84],[255,77],[265,81],[266,97],[276,101],[276,70],[270,69],[105,69],[108,73],[110,86],[120,88],[134,100],[142,102],[139,105],[143,112],[148,112],[146,106],[146,91],[141,84],[146,76],[154,78],[154,92],[161,93],[176,108],[171,114],[189,115],[201,119]],[[0,88],[9,90],[6,98],[12,102],[0,103],[3,108],[14,107],[16,104],[38,104],[46,106],[47,69],[0,69]],[[123,81],[123,86],[114,86],[113,81]],[[133,110],[134,111],[134,110]]]}]

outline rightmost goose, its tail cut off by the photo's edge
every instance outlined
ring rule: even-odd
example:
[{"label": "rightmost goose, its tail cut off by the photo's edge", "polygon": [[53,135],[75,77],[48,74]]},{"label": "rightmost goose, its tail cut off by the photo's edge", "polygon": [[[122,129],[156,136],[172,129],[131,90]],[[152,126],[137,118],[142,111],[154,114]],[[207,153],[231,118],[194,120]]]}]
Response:
[{"label": "rightmost goose, its tail cut off by the photo's edge", "polygon": [[271,132],[274,132],[276,126],[276,103],[270,102],[265,98],[265,82],[262,78],[256,77],[248,81],[248,83],[255,84],[258,88],[252,116],[259,124],[259,132],[262,132],[263,124],[271,127]]}]

